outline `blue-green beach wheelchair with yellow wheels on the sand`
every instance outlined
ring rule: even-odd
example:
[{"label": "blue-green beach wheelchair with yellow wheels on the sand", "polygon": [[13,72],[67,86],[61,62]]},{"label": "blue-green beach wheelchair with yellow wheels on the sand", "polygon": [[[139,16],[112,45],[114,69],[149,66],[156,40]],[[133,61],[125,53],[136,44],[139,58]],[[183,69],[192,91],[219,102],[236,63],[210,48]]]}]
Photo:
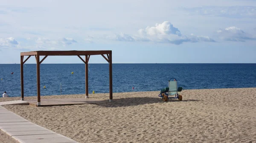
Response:
[{"label": "blue-green beach wheelchair with yellow wheels on the sand", "polygon": [[[177,80],[172,78],[169,79],[168,87],[163,88],[158,96],[163,98],[164,101],[167,101],[168,98],[178,98],[181,101],[182,95],[178,94],[181,90],[182,87],[177,87]],[[169,97],[170,95],[175,95],[175,97]]]}]

